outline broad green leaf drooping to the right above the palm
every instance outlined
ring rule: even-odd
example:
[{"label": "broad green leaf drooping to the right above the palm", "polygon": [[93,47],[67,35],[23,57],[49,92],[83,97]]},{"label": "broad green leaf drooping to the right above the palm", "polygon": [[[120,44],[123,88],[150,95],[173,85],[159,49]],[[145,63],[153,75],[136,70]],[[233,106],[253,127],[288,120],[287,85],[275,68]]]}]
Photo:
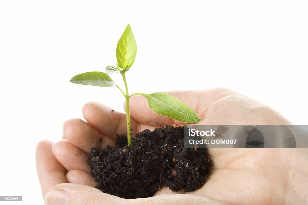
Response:
[{"label": "broad green leaf drooping to the right above the palm", "polygon": [[150,108],[158,114],[186,123],[201,121],[198,114],[192,108],[167,93],[142,93],[142,95],[148,99]]}]

